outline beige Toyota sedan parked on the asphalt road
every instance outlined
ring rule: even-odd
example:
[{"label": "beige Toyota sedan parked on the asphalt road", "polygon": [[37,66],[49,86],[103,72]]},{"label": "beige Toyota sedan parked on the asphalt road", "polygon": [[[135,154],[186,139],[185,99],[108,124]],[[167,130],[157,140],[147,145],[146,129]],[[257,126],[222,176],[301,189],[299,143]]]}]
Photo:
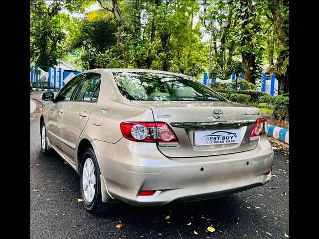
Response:
[{"label": "beige Toyota sedan parked on the asphalt road", "polygon": [[189,76],[141,69],[78,74],[41,113],[41,149],[80,175],[84,207],[165,205],[267,183],[273,150],[258,108]]}]

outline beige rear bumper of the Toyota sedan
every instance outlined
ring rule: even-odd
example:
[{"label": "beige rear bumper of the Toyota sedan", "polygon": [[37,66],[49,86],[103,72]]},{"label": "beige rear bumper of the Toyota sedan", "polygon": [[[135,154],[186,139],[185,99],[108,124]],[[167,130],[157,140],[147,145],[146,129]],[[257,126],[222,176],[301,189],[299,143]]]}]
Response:
[{"label": "beige rear bumper of the Toyota sedan", "polygon": [[[194,158],[167,158],[153,143],[122,138],[116,144],[94,142],[107,188],[102,193],[134,206],[220,197],[264,185],[271,179],[271,173],[266,172],[272,168],[273,150],[266,135],[253,150]],[[157,192],[138,196],[141,190]]]}]

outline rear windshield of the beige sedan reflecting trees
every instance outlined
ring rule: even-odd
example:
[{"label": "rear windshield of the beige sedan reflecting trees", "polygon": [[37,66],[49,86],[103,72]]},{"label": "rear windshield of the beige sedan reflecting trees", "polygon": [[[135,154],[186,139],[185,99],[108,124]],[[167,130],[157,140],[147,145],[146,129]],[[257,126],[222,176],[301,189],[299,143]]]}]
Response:
[{"label": "rear windshield of the beige sedan reflecting trees", "polygon": [[154,72],[113,72],[116,84],[135,101],[226,101],[196,80]]}]

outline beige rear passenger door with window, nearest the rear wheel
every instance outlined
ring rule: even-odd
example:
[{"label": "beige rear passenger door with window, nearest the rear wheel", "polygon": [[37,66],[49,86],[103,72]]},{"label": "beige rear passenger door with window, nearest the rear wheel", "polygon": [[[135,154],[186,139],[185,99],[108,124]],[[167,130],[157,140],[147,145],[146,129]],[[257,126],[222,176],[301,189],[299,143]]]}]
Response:
[{"label": "beige rear passenger door with window, nearest the rear wheel", "polygon": [[75,163],[78,139],[96,107],[101,75],[85,73],[62,118],[62,147],[65,157]]}]

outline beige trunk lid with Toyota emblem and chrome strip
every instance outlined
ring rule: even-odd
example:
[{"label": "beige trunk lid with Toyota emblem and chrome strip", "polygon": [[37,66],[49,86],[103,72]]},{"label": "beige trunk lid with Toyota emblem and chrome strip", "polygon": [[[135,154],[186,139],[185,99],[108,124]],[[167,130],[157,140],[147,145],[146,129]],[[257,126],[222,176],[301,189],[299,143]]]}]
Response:
[{"label": "beige trunk lid with Toyota emblem and chrome strip", "polygon": [[[152,109],[154,120],[166,122],[176,134],[177,147],[158,147],[167,157],[199,157],[251,150],[256,140],[249,134],[256,119],[257,108],[233,102],[132,101]],[[216,119],[215,110],[223,117]]]}]

